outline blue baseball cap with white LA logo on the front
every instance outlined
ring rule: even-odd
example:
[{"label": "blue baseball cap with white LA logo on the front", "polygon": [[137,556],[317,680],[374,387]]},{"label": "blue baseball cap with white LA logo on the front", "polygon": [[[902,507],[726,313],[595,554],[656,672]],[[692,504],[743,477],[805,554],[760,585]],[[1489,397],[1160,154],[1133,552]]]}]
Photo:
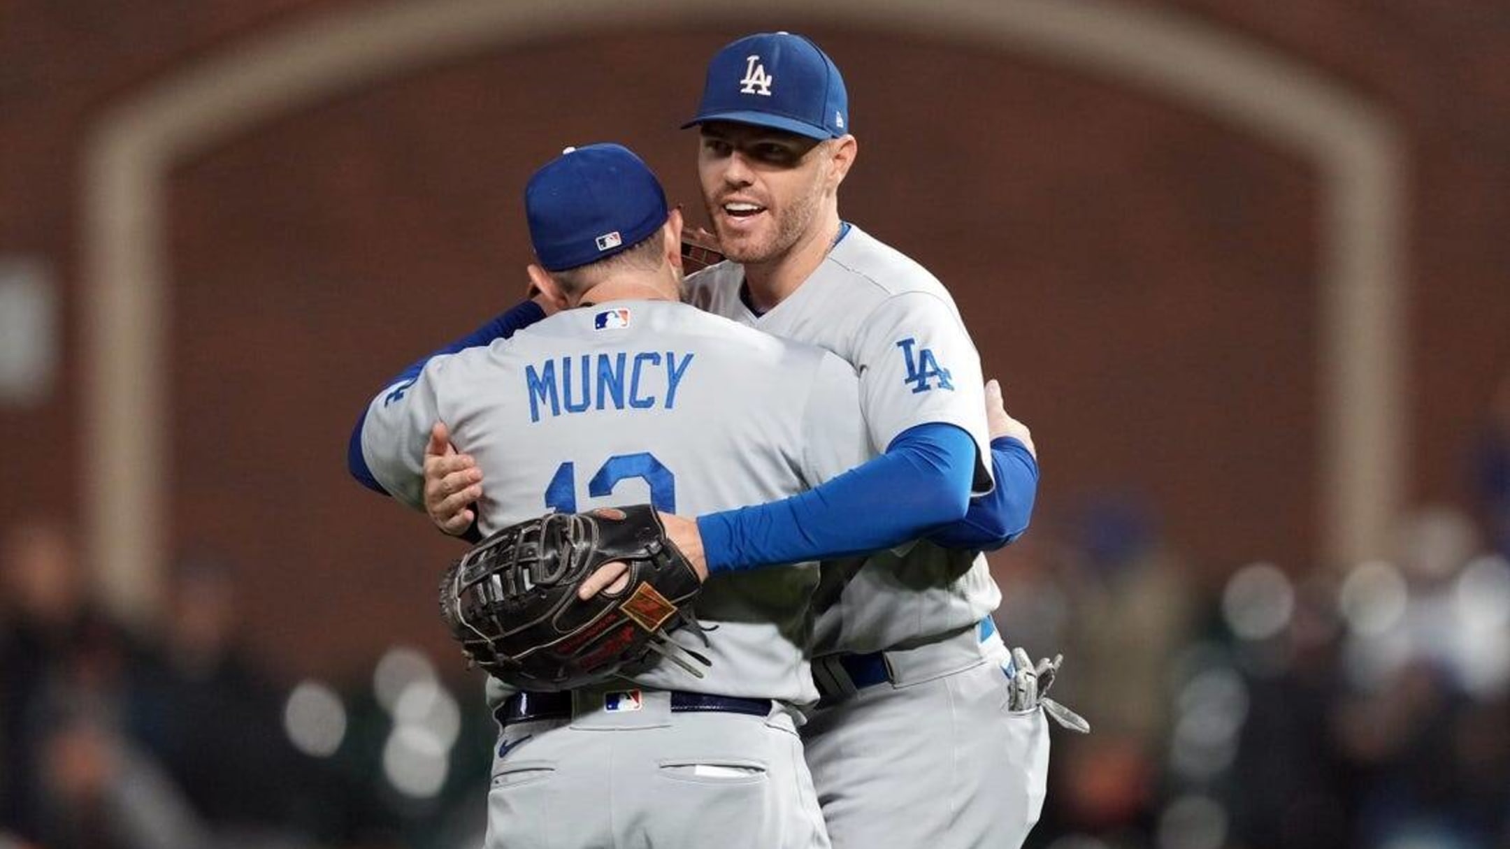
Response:
[{"label": "blue baseball cap with white LA logo on the front", "polygon": [[849,94],[838,65],[812,39],[763,32],[726,45],[708,63],[698,116],[681,127],[708,121],[837,139],[849,133]]}]

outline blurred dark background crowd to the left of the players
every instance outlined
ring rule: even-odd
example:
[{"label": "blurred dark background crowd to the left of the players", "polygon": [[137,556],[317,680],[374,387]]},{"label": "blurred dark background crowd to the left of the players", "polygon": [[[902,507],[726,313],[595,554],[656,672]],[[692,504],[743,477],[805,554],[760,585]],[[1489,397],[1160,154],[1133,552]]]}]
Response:
[{"label": "blurred dark background crowd to the left of the players", "polygon": [[[471,780],[486,770],[491,740],[480,696],[462,699],[480,716],[467,718],[471,737],[456,746],[461,760],[442,761],[441,778],[455,781],[414,792],[403,784],[402,746],[384,745],[405,728],[394,716],[402,693],[384,705],[376,698],[382,681],[353,681],[340,693],[329,684],[270,681],[240,644],[233,568],[181,565],[168,615],[151,633],[113,621],[92,601],[89,583],[63,526],[38,520],[6,533],[0,849],[480,843],[480,831],[479,840],[459,834],[480,829],[480,808],[455,813],[483,793],[482,778]],[[429,696],[421,719],[435,705],[450,710],[455,742],[458,699],[417,653],[396,657],[388,677],[397,669],[411,704],[415,693]],[[322,713],[325,704],[335,713]],[[385,755],[388,770],[379,763]],[[450,822],[465,825],[448,829]]]}]

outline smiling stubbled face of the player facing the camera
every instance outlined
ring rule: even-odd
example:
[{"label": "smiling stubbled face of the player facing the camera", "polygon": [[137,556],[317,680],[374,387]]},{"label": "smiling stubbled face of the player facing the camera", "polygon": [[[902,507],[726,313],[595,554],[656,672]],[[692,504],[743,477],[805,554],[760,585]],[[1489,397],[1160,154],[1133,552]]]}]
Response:
[{"label": "smiling stubbled face of the player facing the camera", "polygon": [[766,127],[702,125],[702,202],[726,257],[746,264],[779,258],[815,227],[827,151],[817,139]]}]

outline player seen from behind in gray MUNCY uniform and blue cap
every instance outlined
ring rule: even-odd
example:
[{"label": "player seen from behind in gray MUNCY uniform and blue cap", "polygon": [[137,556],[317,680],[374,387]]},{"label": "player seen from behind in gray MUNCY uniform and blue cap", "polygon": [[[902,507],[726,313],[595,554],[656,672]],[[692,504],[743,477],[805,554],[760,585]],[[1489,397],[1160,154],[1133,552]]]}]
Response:
[{"label": "player seen from behind in gray MUNCY uniform and blue cap", "polygon": [[[676,302],[681,218],[630,151],[569,150],[525,205],[532,281],[587,307],[411,367],[358,426],[368,483],[420,506],[435,420],[491,480],[483,530],[643,500],[711,514],[870,456],[849,364]],[[661,663],[571,693],[495,687],[488,846],[827,846],[791,710],[818,696],[803,660],[817,580],[811,563],[714,574],[707,644],[672,634],[711,660],[701,675]]]}]

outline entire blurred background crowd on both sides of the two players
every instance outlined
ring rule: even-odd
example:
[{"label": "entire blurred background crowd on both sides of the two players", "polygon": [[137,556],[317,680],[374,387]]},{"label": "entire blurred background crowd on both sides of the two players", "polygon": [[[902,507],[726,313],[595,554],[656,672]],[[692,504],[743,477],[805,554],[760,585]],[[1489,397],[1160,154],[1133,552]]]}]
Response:
[{"label": "entire blurred background crowd on both sides of the two players", "polygon": [[[1475,512],[1421,509],[1347,570],[1202,585],[1136,499],[994,554],[1007,639],[1063,653],[1051,695],[1093,725],[1055,733],[1030,846],[1510,847],[1510,382],[1475,470]],[[0,849],[480,844],[476,680],[388,647],[341,684],[272,681],[213,559],[151,634],[89,583],[60,524],[6,533]]]}]

